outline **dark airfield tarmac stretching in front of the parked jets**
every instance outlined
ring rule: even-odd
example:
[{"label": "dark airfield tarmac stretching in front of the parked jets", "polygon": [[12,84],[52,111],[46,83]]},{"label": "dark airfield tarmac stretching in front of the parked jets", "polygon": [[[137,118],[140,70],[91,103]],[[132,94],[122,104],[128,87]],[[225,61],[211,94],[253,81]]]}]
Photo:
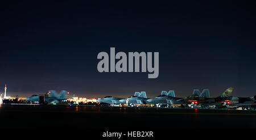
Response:
[{"label": "dark airfield tarmac stretching in front of the parked jets", "polygon": [[0,120],[0,128],[255,129],[256,111],[1,104]]}]

